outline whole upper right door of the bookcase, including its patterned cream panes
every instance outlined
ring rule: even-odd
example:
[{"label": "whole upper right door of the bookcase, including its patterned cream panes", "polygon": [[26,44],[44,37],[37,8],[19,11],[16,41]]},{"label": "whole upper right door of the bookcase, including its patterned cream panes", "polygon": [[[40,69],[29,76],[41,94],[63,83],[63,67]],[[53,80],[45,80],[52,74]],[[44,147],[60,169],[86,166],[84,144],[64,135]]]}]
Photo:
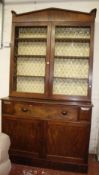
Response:
[{"label": "whole upper right door of the bookcase, including its patterned cream panes", "polygon": [[52,96],[88,98],[91,84],[91,25],[56,23],[52,30]]}]

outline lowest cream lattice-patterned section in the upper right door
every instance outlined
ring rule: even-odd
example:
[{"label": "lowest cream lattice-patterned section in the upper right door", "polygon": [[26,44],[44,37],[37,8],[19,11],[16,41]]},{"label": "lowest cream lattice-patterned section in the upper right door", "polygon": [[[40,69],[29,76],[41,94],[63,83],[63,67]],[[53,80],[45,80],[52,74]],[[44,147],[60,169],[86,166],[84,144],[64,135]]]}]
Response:
[{"label": "lowest cream lattice-patterned section in the upper right door", "polygon": [[65,95],[87,95],[88,82],[77,79],[54,78],[53,94]]}]

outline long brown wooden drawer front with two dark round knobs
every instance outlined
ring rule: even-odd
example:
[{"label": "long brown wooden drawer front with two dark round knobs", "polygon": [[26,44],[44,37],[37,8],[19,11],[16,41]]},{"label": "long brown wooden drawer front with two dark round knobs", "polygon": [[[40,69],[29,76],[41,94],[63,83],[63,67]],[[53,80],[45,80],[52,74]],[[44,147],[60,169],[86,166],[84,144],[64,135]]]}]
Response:
[{"label": "long brown wooden drawer front with two dark round knobs", "polygon": [[27,115],[44,119],[64,119],[73,121],[77,121],[78,119],[78,108],[73,106],[16,103],[14,110],[16,115]]}]

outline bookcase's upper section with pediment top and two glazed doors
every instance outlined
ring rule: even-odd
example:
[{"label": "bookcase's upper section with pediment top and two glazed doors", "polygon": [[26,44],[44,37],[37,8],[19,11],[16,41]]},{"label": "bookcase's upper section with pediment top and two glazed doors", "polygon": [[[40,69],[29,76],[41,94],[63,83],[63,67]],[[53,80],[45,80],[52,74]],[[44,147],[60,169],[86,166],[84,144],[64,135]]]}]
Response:
[{"label": "bookcase's upper section with pediment top and two glazed doors", "polygon": [[90,101],[96,9],[12,14],[10,96]]}]

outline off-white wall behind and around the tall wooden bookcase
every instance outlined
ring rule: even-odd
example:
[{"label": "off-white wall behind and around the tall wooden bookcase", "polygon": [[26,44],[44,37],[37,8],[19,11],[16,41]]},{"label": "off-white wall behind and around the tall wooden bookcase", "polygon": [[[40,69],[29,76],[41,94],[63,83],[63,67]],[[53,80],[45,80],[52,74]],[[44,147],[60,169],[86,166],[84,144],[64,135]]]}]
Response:
[{"label": "off-white wall behind and around the tall wooden bookcase", "polygon": [[[9,1],[10,2],[10,1]],[[28,2],[28,1],[27,1]],[[10,38],[11,38],[11,10],[17,13],[23,13],[48,7],[65,8],[70,10],[89,12],[97,8],[95,22],[95,42],[94,42],[94,65],[93,65],[93,114],[90,138],[90,153],[96,153],[98,129],[99,129],[99,1],[98,0],[70,0],[70,1],[51,1],[31,2],[29,3],[6,3],[4,7],[4,28],[3,28],[3,47],[0,49],[0,98],[9,95],[9,72],[10,72]],[[1,109],[1,107],[0,107]],[[0,120],[0,129],[1,129]]]}]

